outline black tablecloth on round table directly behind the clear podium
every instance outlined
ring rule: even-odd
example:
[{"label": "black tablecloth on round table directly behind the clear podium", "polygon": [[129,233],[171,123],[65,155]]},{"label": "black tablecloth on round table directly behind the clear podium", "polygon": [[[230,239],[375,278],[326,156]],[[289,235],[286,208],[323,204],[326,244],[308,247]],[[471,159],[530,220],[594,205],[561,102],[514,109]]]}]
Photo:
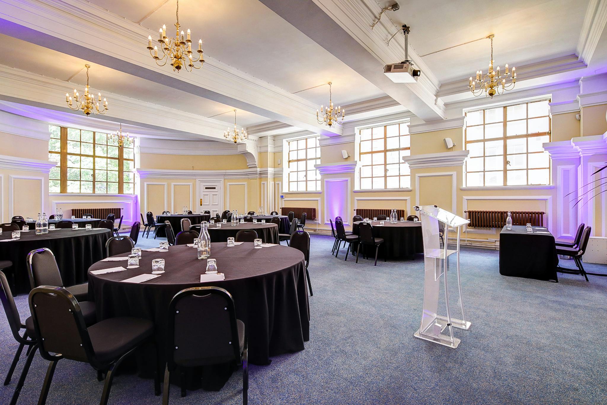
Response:
[{"label": "black tablecloth on round table directly behind the clear podium", "polygon": [[[358,224],[352,224],[352,232],[358,235]],[[379,221],[371,223],[373,236],[381,237],[384,243],[379,247],[379,256],[384,257],[411,257],[416,253],[424,253],[424,240],[421,236],[421,222],[399,221],[390,223],[385,221],[384,226],[378,226]],[[373,251],[375,253],[375,251]]]}]

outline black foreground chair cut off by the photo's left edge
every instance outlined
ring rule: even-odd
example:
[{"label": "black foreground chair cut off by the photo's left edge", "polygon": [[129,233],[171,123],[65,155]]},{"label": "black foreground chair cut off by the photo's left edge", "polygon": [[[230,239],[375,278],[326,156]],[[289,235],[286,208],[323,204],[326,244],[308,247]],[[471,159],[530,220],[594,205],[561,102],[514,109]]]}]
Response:
[{"label": "black foreground chair cut off by the photo's left edge", "polygon": [[0,301],[2,301],[2,307],[4,307],[4,313],[6,314],[8,326],[13,333],[13,338],[15,338],[19,344],[15,357],[13,358],[13,362],[10,364],[8,372],[6,373],[6,378],[4,379],[5,386],[10,384],[10,380],[13,378],[13,372],[15,372],[15,367],[21,358],[21,352],[23,351],[23,348],[27,346],[27,360],[25,361],[25,365],[21,371],[19,383],[15,387],[15,392],[13,392],[13,398],[10,401],[11,404],[16,404],[19,398],[19,393],[21,392],[23,384],[25,383],[27,372],[30,369],[30,364],[32,364],[33,356],[36,354],[36,344],[38,344],[38,342],[36,341],[32,317],[30,316],[29,318],[25,319],[25,323],[21,322],[21,316],[19,316],[19,311],[17,310],[17,305],[15,305],[13,294],[8,286],[6,276],[4,273],[2,273],[2,271],[0,271]]}]

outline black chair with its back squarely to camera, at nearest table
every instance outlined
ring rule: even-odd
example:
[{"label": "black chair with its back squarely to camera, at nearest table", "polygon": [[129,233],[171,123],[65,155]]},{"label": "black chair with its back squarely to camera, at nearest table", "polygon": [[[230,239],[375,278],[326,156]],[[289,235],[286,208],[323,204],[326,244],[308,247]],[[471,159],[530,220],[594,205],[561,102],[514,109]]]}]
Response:
[{"label": "black chair with its back squarely to camera, at nearest table", "polygon": [[[242,403],[248,403],[248,344],[245,324],[236,319],[234,299],[219,287],[179,291],[169,304],[163,405],[169,403],[171,373],[181,368],[181,396],[186,396],[185,367],[234,362],[242,364]],[[209,327],[212,325],[212,327]]]}]

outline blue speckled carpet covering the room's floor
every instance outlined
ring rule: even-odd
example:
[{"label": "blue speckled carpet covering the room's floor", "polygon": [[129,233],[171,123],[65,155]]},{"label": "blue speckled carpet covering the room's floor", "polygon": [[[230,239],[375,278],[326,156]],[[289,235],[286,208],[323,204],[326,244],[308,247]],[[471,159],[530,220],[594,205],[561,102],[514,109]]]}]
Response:
[{"label": "blue speckled carpet covering the room's floor", "polygon": [[[498,252],[466,248],[462,284],[469,331],[455,329],[458,349],[413,337],[419,328],[423,260],[354,264],[344,251],[331,256],[333,239],[312,237],[310,342],[299,353],[250,366],[252,404],[601,404],[607,403],[607,278],[559,273],[546,282],[498,273]],[[141,239],[156,247],[158,239]],[[563,264],[574,267],[571,260]],[[585,265],[607,273],[605,265]],[[455,303],[455,273],[450,277]],[[27,296],[16,298],[22,319]],[[452,305],[452,308],[456,305]],[[458,317],[455,310],[453,316]],[[0,317],[0,375],[17,345]],[[10,386],[0,386],[8,403],[23,366]],[[19,403],[33,404],[47,368],[36,355]],[[86,364],[61,361],[49,404],[94,404],[103,383]],[[173,404],[238,404],[242,377],[234,373],[220,392],[188,392]],[[134,375],[114,379],[113,404],[160,404],[151,380]]]}]

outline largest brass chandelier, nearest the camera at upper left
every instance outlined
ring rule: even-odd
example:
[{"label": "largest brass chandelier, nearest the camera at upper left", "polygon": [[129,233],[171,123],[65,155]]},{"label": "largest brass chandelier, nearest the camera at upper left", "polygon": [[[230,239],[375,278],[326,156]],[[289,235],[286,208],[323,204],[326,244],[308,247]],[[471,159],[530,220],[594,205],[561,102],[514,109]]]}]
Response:
[{"label": "largest brass chandelier, nearest the camera at upper left", "polygon": [[[175,22],[175,38],[167,38],[166,36],[166,26],[163,25],[160,30],[158,30],[158,44],[160,44],[160,49],[162,51],[162,56],[158,56],[158,46],[152,47],[152,36],[148,36],[148,50],[150,51],[150,55],[156,61],[158,66],[164,66],[171,60],[171,66],[173,67],[173,71],[177,70],[179,72],[183,67],[186,68],[189,72],[192,69],[200,69],[205,60],[202,57],[202,39],[198,39],[198,56],[193,56],[192,53],[192,40],[190,39],[190,30],[188,29],[188,36],[185,38],[183,30],[181,31],[181,35],[179,32],[179,0],[177,0],[177,22]],[[152,54],[152,51],[154,53]],[[160,63],[160,61],[164,61],[164,63]],[[200,62],[200,66],[196,66],[195,63]]]}]

